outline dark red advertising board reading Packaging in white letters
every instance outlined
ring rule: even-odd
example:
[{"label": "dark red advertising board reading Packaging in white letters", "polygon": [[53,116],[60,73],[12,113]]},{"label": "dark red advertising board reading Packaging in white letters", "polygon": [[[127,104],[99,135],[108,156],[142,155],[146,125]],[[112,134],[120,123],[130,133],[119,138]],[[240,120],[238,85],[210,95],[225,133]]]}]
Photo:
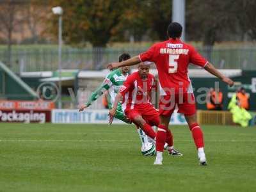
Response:
[{"label": "dark red advertising board reading Packaging in white letters", "polygon": [[51,122],[49,110],[2,110],[0,122],[45,123]]}]

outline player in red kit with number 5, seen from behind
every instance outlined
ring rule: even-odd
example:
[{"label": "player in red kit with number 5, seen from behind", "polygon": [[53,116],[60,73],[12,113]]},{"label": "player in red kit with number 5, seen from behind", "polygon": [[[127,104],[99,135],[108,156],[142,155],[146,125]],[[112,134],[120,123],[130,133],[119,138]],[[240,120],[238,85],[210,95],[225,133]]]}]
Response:
[{"label": "player in red kit with number 5, seen from behind", "polygon": [[209,61],[205,60],[195,48],[180,40],[182,26],[172,22],[167,29],[169,39],[159,42],[141,53],[138,56],[121,63],[110,63],[108,68],[136,65],[141,61],[152,61],[156,64],[159,86],[160,101],[159,113],[161,125],[164,129],[157,130],[156,149],[157,156],[154,164],[163,164],[163,145],[166,138],[166,131],[170,122],[170,116],[178,106],[179,113],[184,113],[189,129],[198,149],[200,165],[206,165],[204,153],[204,137],[200,125],[196,122],[196,105],[193,95],[193,88],[188,77],[188,65],[193,63],[207,70],[221,81],[232,86],[234,82],[219,72]]}]

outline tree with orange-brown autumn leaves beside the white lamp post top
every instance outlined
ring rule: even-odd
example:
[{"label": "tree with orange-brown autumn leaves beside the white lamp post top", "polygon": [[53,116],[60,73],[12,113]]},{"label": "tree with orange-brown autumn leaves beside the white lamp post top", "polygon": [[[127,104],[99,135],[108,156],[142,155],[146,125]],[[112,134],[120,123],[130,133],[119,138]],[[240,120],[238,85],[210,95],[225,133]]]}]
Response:
[{"label": "tree with orange-brown autumn leaves beside the white lamp post top", "polygon": [[[54,0],[52,6],[63,8],[63,38],[68,44],[90,42],[93,47],[106,47],[121,20],[125,3],[116,0]],[[56,19],[52,28],[58,31]],[[57,34],[57,33],[56,33]]]}]

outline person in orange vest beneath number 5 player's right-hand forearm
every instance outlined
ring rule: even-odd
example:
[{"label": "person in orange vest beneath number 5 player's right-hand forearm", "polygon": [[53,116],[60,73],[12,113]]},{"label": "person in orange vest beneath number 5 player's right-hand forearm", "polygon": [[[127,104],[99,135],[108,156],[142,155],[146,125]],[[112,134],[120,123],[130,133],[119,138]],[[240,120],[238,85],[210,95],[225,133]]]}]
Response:
[{"label": "person in orange vest beneath number 5 player's right-hand forearm", "polygon": [[223,109],[223,93],[220,89],[215,91],[214,88],[210,88],[207,93],[207,103],[208,110],[218,110],[221,111]]}]

